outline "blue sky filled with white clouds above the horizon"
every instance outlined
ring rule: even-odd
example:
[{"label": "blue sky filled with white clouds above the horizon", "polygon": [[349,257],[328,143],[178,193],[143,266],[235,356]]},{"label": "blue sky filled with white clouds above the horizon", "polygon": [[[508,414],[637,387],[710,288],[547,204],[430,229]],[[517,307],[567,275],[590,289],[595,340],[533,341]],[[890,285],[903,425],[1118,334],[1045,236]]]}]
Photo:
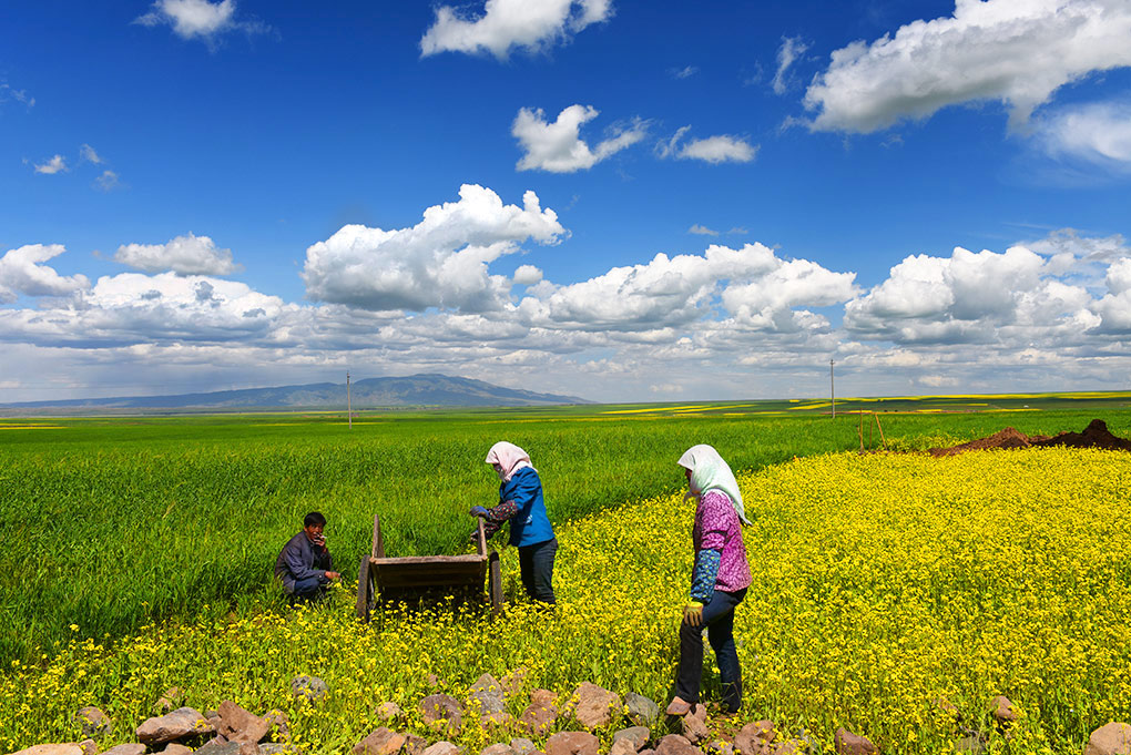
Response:
[{"label": "blue sky filled with white clouds above the horizon", "polygon": [[0,401],[1131,389],[1125,0],[8,3]]}]

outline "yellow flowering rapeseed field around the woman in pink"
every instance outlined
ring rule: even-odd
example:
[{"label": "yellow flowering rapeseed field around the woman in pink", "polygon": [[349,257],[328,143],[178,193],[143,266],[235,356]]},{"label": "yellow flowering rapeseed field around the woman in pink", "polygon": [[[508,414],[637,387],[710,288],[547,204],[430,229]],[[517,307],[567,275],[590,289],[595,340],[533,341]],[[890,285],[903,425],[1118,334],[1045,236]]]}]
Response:
[{"label": "yellow flowering rapeseed field around the woman in pink", "polygon": [[[1079,753],[1094,728],[1131,719],[1125,453],[834,454],[741,485],[754,517],[744,532],[753,585],[735,625],[742,720],[775,720],[824,750],[844,726],[884,753],[946,753],[957,726],[946,698],[990,752]],[[439,606],[361,626],[342,588],[317,610],[76,640],[6,670],[0,750],[80,738],[83,705],[114,721],[107,744],[129,740],[171,686],[199,710],[225,698],[280,709],[305,753],[346,752],[379,724],[385,701],[408,712],[400,728],[424,732],[416,703],[434,691],[466,700],[483,672],[523,669],[515,715],[525,693],[564,700],[584,680],[663,704],[692,513],[668,496],[559,527],[554,614],[516,598],[494,622]],[[517,555],[503,559],[513,595]],[[717,694],[708,669],[706,693]],[[323,678],[327,700],[292,700],[297,674]],[[987,714],[994,695],[1021,713],[1009,741]],[[511,736],[470,726],[458,744],[478,752]]]}]

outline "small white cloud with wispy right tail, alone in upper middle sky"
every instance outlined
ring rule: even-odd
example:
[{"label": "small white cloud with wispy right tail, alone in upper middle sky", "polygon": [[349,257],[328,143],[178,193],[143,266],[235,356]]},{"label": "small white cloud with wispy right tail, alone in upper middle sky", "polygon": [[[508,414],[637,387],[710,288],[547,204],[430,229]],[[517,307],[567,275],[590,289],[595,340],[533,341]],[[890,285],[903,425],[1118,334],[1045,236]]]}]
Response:
[{"label": "small white cloud with wispy right tail, alone in upper middle sky", "polygon": [[525,150],[518,160],[519,171],[541,170],[550,173],[573,173],[593,167],[645,138],[647,123],[636,119],[631,125],[614,130],[610,138],[589,149],[580,138],[581,124],[592,121],[598,111],[586,105],[570,105],[547,123],[541,109],[523,107],[515,118],[511,134]]}]

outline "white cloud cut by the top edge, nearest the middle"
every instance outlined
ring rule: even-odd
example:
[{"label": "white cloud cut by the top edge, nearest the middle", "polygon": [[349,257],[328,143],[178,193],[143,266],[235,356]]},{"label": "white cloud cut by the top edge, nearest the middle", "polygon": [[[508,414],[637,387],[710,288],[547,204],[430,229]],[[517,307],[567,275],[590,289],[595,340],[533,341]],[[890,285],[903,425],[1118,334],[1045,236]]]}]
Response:
[{"label": "white cloud cut by the top edge, nearest the middle", "polygon": [[421,54],[491,53],[504,60],[512,47],[544,50],[612,14],[612,0],[486,0],[477,18],[440,6]]}]

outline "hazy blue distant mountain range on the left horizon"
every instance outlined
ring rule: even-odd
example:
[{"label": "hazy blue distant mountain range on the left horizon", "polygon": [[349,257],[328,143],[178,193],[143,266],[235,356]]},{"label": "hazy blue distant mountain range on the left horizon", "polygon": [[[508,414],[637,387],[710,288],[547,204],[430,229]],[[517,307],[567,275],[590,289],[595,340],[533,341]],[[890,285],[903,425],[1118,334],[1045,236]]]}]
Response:
[{"label": "hazy blue distant mountain range on the left horizon", "polygon": [[[366,407],[446,406],[518,407],[555,403],[592,403],[575,396],[535,393],[501,388],[482,380],[422,374],[408,378],[369,378],[351,383],[354,409]],[[178,396],[122,396],[106,399],[25,401],[0,405],[10,408],[118,408],[118,409],[267,409],[345,408],[345,383],[311,383],[278,388],[248,388],[239,391],[182,393]]]}]

